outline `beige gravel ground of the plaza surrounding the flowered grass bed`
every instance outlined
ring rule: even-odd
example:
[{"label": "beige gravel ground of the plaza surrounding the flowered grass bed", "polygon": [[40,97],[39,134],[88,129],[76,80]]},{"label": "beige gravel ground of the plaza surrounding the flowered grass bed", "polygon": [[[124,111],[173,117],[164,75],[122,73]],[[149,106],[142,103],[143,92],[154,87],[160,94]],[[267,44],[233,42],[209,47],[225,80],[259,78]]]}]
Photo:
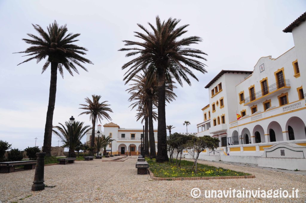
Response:
[{"label": "beige gravel ground of the plaza surrounding the flowered grass bed", "polygon": [[[199,161],[256,175],[254,179],[155,181],[149,175],[136,175],[136,157],[123,162],[76,161],[75,164],[45,167],[45,184],[55,186],[31,191],[35,170],[0,174],[2,202],[305,202],[306,176]],[[299,198],[205,198],[204,190],[282,190],[299,189]],[[192,188],[202,195],[192,198]],[[30,197],[27,197],[32,195]],[[25,198],[26,197],[26,198]],[[25,198],[20,200],[21,198]]]}]

